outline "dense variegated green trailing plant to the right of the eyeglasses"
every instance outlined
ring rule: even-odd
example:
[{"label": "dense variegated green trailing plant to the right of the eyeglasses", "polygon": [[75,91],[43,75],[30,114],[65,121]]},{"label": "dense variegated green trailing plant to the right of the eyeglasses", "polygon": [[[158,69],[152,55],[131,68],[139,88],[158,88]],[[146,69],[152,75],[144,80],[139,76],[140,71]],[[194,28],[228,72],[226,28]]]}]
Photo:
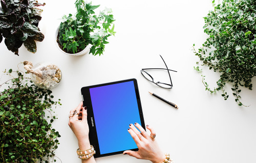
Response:
[{"label": "dense variegated green trailing plant to the right of the eyeglasses", "polygon": [[[252,90],[251,78],[256,75],[256,1],[224,0],[222,4],[212,4],[214,11],[204,17],[204,32],[209,37],[198,50],[195,44],[193,47],[200,63],[221,75],[214,90],[209,89],[204,75],[202,81],[211,93],[221,90],[225,100],[228,95],[224,86],[231,83],[235,100],[241,106],[239,87]],[[194,68],[201,71],[199,66]]]}]

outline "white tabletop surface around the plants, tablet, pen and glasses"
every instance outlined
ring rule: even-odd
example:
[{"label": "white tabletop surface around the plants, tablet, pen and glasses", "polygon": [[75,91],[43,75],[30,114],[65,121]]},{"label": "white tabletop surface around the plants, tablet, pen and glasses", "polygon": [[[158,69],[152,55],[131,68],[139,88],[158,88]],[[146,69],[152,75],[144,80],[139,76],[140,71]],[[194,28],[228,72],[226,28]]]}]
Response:
[{"label": "white tabletop surface around the plants, tablet, pen and glasses", "polygon": [[[221,92],[206,92],[201,75],[193,68],[198,58],[191,51],[206,40],[204,19],[212,10],[211,1],[93,1],[100,9],[113,9],[116,36],[109,38],[103,56],[70,57],[55,45],[55,31],[63,14],[75,12],[75,1],[45,1],[39,28],[45,34],[37,42],[37,52],[24,46],[15,56],[0,44],[0,70],[16,69],[25,60],[34,64],[52,62],[62,70],[62,80],[53,89],[62,106],[56,109],[58,120],[53,127],[61,134],[56,150],[63,163],[80,162],[76,156],[77,140],[68,126],[69,111],[81,101],[80,88],[89,85],[136,78],[138,80],[145,124],[153,126],[157,141],[164,152],[170,152],[175,162],[255,162],[256,153],[256,79],[253,90],[242,88],[241,101],[250,107],[240,107],[234,101],[231,84],[226,86],[228,100]],[[173,89],[166,90],[148,82],[141,68],[164,68],[162,55],[171,72]],[[3,74],[1,72],[1,74]],[[166,71],[151,71],[157,80],[168,81]],[[216,87],[218,73],[203,69],[211,88]],[[0,81],[5,82],[3,79]],[[148,91],[176,103],[176,110],[151,96]],[[127,111],[128,112],[128,111]],[[115,127],[115,124],[109,127]],[[127,126],[128,128],[128,126]],[[117,128],[118,130],[119,128]],[[96,159],[97,162],[149,162],[128,155]],[[57,162],[60,162],[57,159]]]}]

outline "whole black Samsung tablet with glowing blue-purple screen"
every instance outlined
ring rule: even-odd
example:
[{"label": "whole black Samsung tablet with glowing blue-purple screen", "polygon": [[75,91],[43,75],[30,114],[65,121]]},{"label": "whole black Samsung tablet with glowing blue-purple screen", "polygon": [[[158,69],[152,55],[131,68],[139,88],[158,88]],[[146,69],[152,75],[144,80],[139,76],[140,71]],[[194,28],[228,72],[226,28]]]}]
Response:
[{"label": "whole black Samsung tablet with glowing blue-purple screen", "polygon": [[81,88],[83,106],[87,106],[89,139],[95,158],[138,150],[130,133],[129,124],[144,119],[136,79]]}]

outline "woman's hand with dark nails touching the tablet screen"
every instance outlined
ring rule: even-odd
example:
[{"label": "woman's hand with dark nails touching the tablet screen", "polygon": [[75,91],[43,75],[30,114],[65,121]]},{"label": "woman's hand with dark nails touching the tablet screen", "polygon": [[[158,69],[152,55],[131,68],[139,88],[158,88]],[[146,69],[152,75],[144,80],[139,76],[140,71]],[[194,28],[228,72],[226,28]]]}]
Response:
[{"label": "woman's hand with dark nails touching the tablet screen", "polygon": [[155,141],[156,133],[154,129],[146,125],[146,128],[149,129],[151,132],[151,135],[148,135],[140,124],[135,123],[134,125],[130,124],[128,132],[131,134],[139,150],[128,150],[124,151],[123,154],[129,154],[130,156],[136,157],[138,159],[148,159],[151,160],[153,163],[162,163],[165,159],[165,155],[160,150],[157,142]]}]

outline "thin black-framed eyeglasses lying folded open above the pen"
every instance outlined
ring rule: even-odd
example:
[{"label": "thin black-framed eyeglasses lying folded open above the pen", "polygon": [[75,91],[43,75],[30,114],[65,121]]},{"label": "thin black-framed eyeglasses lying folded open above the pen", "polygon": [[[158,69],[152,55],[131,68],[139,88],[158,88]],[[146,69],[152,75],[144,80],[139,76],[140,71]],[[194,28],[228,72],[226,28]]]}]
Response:
[{"label": "thin black-framed eyeglasses lying folded open above the pen", "polygon": [[[159,55],[159,56],[162,58],[161,55]],[[162,58],[162,60],[163,60],[163,58]],[[163,63],[165,64],[164,60],[163,60]],[[169,70],[166,64],[165,64],[165,66],[166,66],[166,68],[143,68],[143,69],[140,70],[140,72],[148,81],[156,84],[157,86],[159,86],[161,88],[171,89],[171,88],[173,88],[173,83],[172,83],[172,79],[170,78],[169,71],[174,71],[174,70]],[[167,70],[167,72],[169,74],[169,78],[170,78],[170,84],[161,83],[161,82],[155,82],[154,78],[149,73],[144,71],[144,70],[153,70],[153,69]],[[174,71],[174,72],[177,72],[177,71]]]}]

